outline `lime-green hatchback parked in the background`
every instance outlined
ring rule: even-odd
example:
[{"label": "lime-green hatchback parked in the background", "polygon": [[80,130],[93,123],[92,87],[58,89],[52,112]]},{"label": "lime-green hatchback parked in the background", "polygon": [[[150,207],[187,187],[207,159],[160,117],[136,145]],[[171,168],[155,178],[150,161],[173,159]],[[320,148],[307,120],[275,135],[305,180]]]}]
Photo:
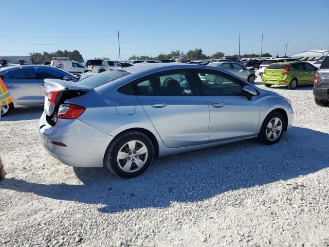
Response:
[{"label": "lime-green hatchback parked in the background", "polygon": [[296,89],[297,85],[313,84],[317,68],[305,62],[272,63],[262,75],[265,86],[286,85],[288,89]]}]

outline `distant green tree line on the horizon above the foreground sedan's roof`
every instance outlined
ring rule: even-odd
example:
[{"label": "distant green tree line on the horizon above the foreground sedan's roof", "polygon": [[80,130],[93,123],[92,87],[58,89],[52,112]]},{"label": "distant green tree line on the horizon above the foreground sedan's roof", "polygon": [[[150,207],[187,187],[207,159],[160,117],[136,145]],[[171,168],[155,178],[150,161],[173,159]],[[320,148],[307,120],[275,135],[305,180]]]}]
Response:
[{"label": "distant green tree line on the horizon above the foreground sedan's roof", "polygon": [[[225,53],[222,51],[217,51],[211,56],[207,56],[206,54],[203,54],[202,49],[195,48],[194,50],[189,50],[186,53],[180,50],[172,50],[169,54],[159,54],[157,57],[149,57],[149,56],[132,56],[129,58],[129,60],[168,60],[168,59],[188,59],[188,60],[197,60],[197,59],[218,59],[225,56]],[[233,55],[232,57],[238,58],[239,55]],[[259,54],[244,54],[241,55],[240,58],[259,58],[261,57]],[[262,54],[262,57],[271,57],[269,53]]]}]

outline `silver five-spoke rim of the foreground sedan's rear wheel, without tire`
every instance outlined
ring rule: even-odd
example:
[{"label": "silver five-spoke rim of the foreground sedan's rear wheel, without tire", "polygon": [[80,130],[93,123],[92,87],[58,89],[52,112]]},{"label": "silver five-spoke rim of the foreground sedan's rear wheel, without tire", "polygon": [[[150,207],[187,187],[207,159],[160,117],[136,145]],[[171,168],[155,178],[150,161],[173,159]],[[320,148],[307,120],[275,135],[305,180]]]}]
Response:
[{"label": "silver five-spoke rim of the foreground sedan's rear wheel, without tire", "polygon": [[148,148],[139,140],[125,143],[117,154],[117,162],[124,172],[140,170],[148,159]]}]

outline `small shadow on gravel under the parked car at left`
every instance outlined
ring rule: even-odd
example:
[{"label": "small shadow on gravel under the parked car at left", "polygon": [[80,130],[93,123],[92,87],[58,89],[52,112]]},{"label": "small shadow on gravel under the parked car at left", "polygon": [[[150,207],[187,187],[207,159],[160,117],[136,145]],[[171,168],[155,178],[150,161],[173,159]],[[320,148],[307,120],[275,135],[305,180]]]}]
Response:
[{"label": "small shadow on gravel under the parked car at left", "polygon": [[41,107],[24,107],[12,110],[7,116],[1,117],[1,121],[20,121],[39,119],[43,112]]}]

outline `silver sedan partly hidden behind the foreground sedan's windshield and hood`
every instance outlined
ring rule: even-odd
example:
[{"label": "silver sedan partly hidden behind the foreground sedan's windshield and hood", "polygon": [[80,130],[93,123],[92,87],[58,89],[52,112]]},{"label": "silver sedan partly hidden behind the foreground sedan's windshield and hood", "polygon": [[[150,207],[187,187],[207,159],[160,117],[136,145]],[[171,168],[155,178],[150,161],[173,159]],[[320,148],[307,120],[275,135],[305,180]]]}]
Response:
[{"label": "silver sedan partly hidden behind the foreground sedan's windshield and hood", "polygon": [[208,66],[224,69],[236,76],[241,77],[242,79],[249,81],[250,83],[253,83],[256,79],[255,72],[253,70],[246,68],[245,66],[242,66],[239,63],[216,62],[216,63],[209,63]]}]

